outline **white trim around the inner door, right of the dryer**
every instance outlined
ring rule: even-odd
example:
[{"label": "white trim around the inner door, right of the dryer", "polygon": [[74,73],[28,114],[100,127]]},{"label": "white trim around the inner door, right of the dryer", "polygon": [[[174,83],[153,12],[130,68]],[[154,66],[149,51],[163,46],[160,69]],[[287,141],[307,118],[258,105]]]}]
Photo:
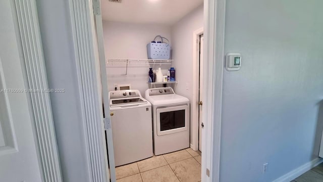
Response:
[{"label": "white trim around the inner door, right of the dryer", "polygon": [[199,106],[197,105],[198,103],[198,82],[199,82],[199,70],[198,70],[198,61],[199,61],[199,48],[197,48],[197,40],[199,36],[203,34],[203,27],[195,30],[193,32],[193,99],[192,99],[192,121],[193,126],[192,127],[192,141],[191,141],[191,148],[195,151],[198,150],[198,129],[199,129],[199,123],[198,123],[198,110]]}]

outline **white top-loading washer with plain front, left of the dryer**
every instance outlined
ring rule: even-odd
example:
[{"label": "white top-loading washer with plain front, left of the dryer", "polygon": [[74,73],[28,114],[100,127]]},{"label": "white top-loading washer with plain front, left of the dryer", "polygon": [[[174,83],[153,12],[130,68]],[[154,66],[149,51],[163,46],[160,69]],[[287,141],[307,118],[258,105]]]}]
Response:
[{"label": "white top-loading washer with plain front, left of the dryer", "polygon": [[109,93],[116,166],[152,157],[151,104],[139,90]]}]

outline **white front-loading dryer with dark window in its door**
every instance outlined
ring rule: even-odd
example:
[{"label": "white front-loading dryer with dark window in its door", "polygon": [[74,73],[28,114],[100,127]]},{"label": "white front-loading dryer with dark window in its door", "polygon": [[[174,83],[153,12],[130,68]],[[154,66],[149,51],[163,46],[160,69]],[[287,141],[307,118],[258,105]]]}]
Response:
[{"label": "white front-loading dryer with dark window in its door", "polygon": [[189,100],[173,88],[150,88],[145,98],[152,105],[153,152],[166,154],[189,147]]}]

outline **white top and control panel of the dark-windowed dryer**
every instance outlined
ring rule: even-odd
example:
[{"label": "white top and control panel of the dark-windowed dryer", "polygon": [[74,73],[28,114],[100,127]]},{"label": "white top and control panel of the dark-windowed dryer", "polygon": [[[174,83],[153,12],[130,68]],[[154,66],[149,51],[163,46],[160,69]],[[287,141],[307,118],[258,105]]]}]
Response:
[{"label": "white top and control panel of the dark-windowed dryer", "polygon": [[[171,89],[171,93],[165,94],[165,89]],[[149,94],[152,93],[151,90],[163,90],[164,93],[160,93],[160,95]],[[168,92],[168,91],[167,91]],[[172,88],[150,88],[147,89],[145,92],[145,98],[147,101],[149,101],[154,106],[160,106],[160,105],[173,105],[173,104],[181,104],[181,103],[188,103],[189,99],[186,97],[177,95],[174,93]]]}]

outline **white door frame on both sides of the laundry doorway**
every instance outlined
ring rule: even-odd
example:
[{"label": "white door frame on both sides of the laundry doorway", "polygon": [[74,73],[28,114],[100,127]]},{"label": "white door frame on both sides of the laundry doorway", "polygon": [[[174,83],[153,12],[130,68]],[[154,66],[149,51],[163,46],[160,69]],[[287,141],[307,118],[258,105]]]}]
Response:
[{"label": "white door frame on both sides of the laundry doorway", "polygon": [[[89,87],[93,82],[98,82],[96,69],[90,66],[98,61],[95,58],[97,50],[94,47],[94,39],[96,34],[93,32],[91,26],[93,23],[93,13],[100,15],[100,0],[69,0],[69,10],[71,12],[71,24],[73,27],[73,41],[76,48],[76,58],[80,63],[78,67],[79,80],[90,76],[91,80],[82,80],[83,88],[80,92],[84,93],[85,98],[100,98],[99,90],[101,87],[96,85],[95,88]],[[95,5],[95,6],[93,6]],[[94,11],[93,11],[94,7]],[[202,129],[202,181],[219,181],[220,180],[220,147],[221,147],[221,112],[222,112],[222,85],[223,85],[223,69],[224,69],[224,29],[225,29],[225,11],[226,0],[204,0],[204,63],[203,64],[203,121],[204,128]],[[85,39],[84,39],[85,37]],[[193,44],[194,45],[194,44]],[[84,48],[89,54],[89,58],[85,58],[83,52],[79,50]],[[86,89],[93,90],[92,95],[85,93]],[[206,99],[207,98],[207,99]],[[102,104],[102,100],[98,101]],[[84,104],[84,113],[96,115],[100,108],[91,108],[93,104],[97,106],[95,100],[89,102],[82,101]],[[91,120],[83,121],[85,126],[94,127]],[[104,131],[103,123],[95,125],[95,131]],[[87,141],[91,145],[87,145],[89,151],[88,157],[90,173],[99,171],[95,175],[108,176],[107,174],[107,159],[102,156],[104,149],[98,145],[104,140],[102,135],[93,135],[86,133]],[[106,153],[105,153],[106,155]],[[102,158],[100,158],[102,157]],[[105,167],[105,170],[104,170]],[[114,174],[111,174],[114,175]],[[109,180],[103,180],[107,181]],[[93,176],[93,181],[100,181]]]}]

